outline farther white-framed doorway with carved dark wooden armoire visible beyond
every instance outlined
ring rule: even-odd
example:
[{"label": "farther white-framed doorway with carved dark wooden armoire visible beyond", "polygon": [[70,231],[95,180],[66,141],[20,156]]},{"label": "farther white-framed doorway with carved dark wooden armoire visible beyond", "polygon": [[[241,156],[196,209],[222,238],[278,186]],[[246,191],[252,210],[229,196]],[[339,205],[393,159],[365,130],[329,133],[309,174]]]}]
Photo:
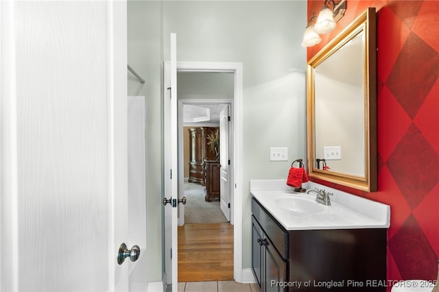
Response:
[{"label": "farther white-framed doorway with carved dark wooden armoire visible beyond", "polygon": [[[193,108],[201,114],[207,110],[210,121],[193,123]],[[200,110],[203,109],[203,110]],[[179,206],[178,225],[189,223],[219,223],[230,221],[233,224],[233,205],[231,199],[233,189],[230,177],[233,176],[235,165],[233,163],[233,121],[224,120],[224,112],[233,110],[233,99],[184,99],[178,101],[178,193],[189,195],[193,198],[194,193],[203,193],[198,196],[198,206],[211,209],[210,214],[198,212],[195,220],[188,218],[186,209],[189,206]],[[209,114],[210,112],[210,114]],[[200,114],[195,119],[200,119]],[[220,134],[221,132],[221,134]],[[213,149],[213,139],[217,146]],[[220,149],[222,148],[222,149]],[[216,155],[215,155],[216,154]],[[182,195],[183,196],[183,195]],[[188,197],[189,199],[189,197]],[[207,202],[208,204],[203,204]],[[218,210],[214,210],[217,206]],[[226,206],[226,208],[224,208]],[[192,210],[189,210],[192,211]],[[192,212],[191,212],[192,213]],[[224,215],[224,217],[222,216]],[[209,218],[216,217],[215,218]]]}]

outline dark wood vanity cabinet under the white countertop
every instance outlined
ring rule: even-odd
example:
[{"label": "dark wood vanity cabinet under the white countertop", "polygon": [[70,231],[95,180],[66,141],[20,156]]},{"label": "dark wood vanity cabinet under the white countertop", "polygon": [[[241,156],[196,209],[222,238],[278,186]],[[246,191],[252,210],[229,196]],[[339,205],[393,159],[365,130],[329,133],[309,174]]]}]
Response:
[{"label": "dark wood vanity cabinet under the white countertop", "polygon": [[[386,244],[385,228],[285,230],[252,198],[252,269],[261,292],[384,292]],[[273,285],[284,281],[289,287]]]}]

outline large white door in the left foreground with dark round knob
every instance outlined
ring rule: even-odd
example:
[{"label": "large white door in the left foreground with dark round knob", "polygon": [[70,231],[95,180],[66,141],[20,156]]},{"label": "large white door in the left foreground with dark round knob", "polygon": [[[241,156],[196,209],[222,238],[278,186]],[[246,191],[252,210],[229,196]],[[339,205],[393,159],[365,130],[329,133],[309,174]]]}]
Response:
[{"label": "large white door in the left foreground with dark round knob", "polygon": [[128,291],[126,2],[0,14],[1,290]]}]

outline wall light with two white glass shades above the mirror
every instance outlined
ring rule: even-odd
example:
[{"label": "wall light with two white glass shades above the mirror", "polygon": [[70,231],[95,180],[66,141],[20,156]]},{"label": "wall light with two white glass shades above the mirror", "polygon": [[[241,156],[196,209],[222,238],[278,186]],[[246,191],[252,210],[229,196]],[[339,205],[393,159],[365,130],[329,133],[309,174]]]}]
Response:
[{"label": "wall light with two white glass shades above the mirror", "polygon": [[[303,47],[312,47],[313,45],[318,44],[321,40],[318,34],[327,34],[335,28],[335,23],[344,16],[344,12],[346,11],[346,1],[347,0],[340,0],[338,3],[335,3],[334,0],[324,0],[322,10],[320,10],[318,17],[313,13],[313,16],[309,19],[309,24],[305,29],[305,34],[303,34]],[[327,3],[331,4],[332,9],[329,8]],[[313,25],[311,21],[314,18],[316,18],[317,21]],[[317,35],[317,38],[314,34],[311,34],[311,29],[313,30],[313,33]]]}]

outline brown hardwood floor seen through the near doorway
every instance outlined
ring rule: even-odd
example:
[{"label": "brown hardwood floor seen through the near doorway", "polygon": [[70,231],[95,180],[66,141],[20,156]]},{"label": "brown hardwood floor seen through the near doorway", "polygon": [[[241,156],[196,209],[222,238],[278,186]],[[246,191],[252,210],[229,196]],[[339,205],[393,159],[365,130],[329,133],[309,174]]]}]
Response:
[{"label": "brown hardwood floor seen through the near doorway", "polygon": [[178,226],[178,282],[221,280],[233,280],[233,226]]}]

